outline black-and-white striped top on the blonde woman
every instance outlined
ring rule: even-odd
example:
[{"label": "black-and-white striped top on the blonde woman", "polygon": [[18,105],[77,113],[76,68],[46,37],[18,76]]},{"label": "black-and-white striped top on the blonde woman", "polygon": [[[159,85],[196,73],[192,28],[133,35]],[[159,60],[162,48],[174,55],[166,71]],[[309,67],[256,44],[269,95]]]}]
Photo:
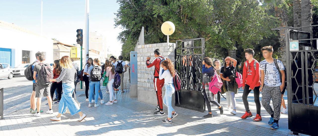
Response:
[{"label": "black-and-white striped top on the blonde woman", "polygon": [[73,83],[76,78],[76,70],[75,68],[62,68],[62,71],[58,78],[56,78],[56,82],[62,81],[62,83]]}]

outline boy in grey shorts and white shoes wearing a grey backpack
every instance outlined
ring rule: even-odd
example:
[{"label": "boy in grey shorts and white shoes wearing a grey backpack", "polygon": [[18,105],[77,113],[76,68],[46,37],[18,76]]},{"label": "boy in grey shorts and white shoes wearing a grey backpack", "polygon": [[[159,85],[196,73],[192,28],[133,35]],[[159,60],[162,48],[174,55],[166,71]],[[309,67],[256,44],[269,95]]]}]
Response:
[{"label": "boy in grey shorts and white shoes wearing a grey backpack", "polygon": [[[34,68],[33,68],[33,79],[35,80],[36,82],[36,87],[35,87],[35,98],[37,98],[37,109],[38,111],[34,114],[34,116],[37,116],[37,117],[40,117],[41,116],[41,112],[39,112],[41,109],[41,99],[42,99],[42,96],[46,97],[47,98],[47,101],[48,101],[48,104],[49,104],[49,107],[50,109],[47,110],[45,113],[48,113],[48,114],[53,114],[53,110],[52,110],[52,98],[50,96],[50,87],[51,87],[51,83],[48,83],[48,84],[45,84],[45,85],[42,85],[40,84],[40,79],[41,79],[41,76],[45,76],[45,75],[42,75],[42,66],[43,65],[47,65],[50,69],[51,69],[51,66],[44,63],[45,61],[45,56],[44,56],[44,53],[43,52],[40,52],[38,54],[38,60],[39,60],[39,64],[35,65]],[[45,67],[45,66],[43,66]],[[44,68],[46,69],[46,68]],[[38,73],[38,75],[37,75]]]}]

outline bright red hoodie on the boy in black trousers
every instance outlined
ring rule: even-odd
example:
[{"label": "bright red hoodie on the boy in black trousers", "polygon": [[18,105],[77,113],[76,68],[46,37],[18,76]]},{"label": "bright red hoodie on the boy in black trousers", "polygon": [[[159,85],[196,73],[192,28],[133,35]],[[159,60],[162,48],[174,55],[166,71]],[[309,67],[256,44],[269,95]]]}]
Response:
[{"label": "bright red hoodie on the boy in black trousers", "polygon": [[[256,61],[256,69],[254,68],[254,61]],[[245,62],[247,62],[247,67],[245,65]],[[254,87],[260,86],[260,71],[259,71],[259,62],[257,60],[253,59],[251,63],[248,63],[248,60],[246,60],[243,63],[243,85],[249,85],[252,90],[254,90]]]}]

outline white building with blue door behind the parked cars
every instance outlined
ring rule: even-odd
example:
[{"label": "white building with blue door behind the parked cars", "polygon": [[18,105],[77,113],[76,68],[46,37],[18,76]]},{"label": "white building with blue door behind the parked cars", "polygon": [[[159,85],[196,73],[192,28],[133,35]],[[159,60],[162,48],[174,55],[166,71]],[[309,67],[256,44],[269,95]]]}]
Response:
[{"label": "white building with blue door behind the parked cars", "polygon": [[38,51],[45,52],[47,63],[53,63],[52,39],[0,21],[0,63],[8,63],[11,67],[32,63]]}]

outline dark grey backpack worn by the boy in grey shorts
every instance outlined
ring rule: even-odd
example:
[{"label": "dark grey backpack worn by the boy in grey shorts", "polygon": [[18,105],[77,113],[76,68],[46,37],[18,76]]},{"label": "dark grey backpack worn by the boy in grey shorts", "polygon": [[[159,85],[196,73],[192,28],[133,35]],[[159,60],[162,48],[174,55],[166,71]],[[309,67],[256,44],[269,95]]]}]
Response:
[{"label": "dark grey backpack worn by the boy in grey shorts", "polygon": [[41,66],[41,69],[38,73],[38,75],[41,75],[38,77],[37,85],[49,85],[50,79],[53,78],[53,71],[51,70],[51,66],[46,63],[39,63],[38,65]]}]

